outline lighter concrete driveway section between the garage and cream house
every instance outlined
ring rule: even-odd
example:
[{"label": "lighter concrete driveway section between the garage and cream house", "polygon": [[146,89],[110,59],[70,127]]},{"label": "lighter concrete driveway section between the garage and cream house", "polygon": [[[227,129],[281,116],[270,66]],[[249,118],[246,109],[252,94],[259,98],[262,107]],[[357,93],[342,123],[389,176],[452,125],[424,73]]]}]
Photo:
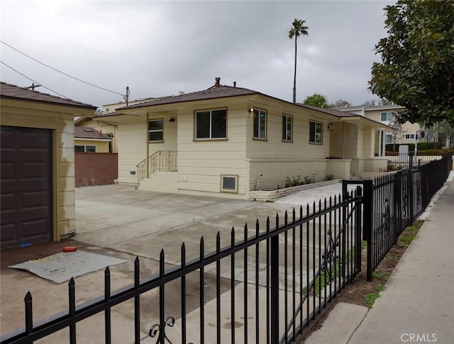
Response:
[{"label": "lighter concrete driveway section between the garage and cream house", "polygon": [[153,260],[163,248],[166,262],[179,264],[183,242],[189,260],[199,256],[201,236],[209,253],[218,231],[221,247],[229,245],[232,227],[240,240],[245,223],[254,235],[257,219],[265,231],[267,216],[274,227],[276,214],[283,221],[286,210],[291,213],[292,205],[145,192],[131,185],[84,187],[76,190],[74,240]]}]

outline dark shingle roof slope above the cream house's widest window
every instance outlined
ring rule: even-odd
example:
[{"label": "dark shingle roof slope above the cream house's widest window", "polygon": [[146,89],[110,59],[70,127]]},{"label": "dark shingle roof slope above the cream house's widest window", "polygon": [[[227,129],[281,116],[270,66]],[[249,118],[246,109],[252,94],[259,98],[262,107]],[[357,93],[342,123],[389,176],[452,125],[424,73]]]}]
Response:
[{"label": "dark shingle roof slope above the cream house's widest window", "polygon": [[[117,109],[117,111],[121,110],[121,109],[141,108],[143,106],[181,103],[183,101],[216,99],[216,98],[224,98],[224,97],[228,97],[228,96],[244,96],[246,94],[260,94],[260,92],[253,91],[252,89],[243,89],[241,87],[231,87],[231,86],[220,85],[219,87],[210,87],[209,89],[204,89],[203,91],[185,93],[185,94],[181,94],[179,96],[166,96],[164,98],[156,99],[155,101],[145,101],[144,103],[135,104],[135,105],[126,106],[126,107]],[[109,115],[111,115],[111,113],[109,113]]]}]

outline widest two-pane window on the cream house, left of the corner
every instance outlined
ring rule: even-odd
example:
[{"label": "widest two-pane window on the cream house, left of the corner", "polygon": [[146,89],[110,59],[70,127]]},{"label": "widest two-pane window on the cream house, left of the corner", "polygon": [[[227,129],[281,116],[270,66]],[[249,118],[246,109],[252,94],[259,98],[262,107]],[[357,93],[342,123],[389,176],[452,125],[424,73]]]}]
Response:
[{"label": "widest two-pane window on the cream house, left of the corner", "polygon": [[196,111],[196,139],[227,138],[227,109]]}]

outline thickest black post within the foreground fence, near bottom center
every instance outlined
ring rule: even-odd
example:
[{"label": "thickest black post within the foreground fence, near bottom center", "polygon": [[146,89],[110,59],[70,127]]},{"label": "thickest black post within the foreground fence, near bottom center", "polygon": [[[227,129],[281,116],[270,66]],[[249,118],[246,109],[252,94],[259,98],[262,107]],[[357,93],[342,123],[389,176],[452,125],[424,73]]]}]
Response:
[{"label": "thickest black post within the foreground fence, near bottom center", "polygon": [[[279,223],[276,223],[276,229]],[[271,343],[279,343],[279,235],[271,238]],[[245,282],[246,283],[246,282]],[[287,326],[287,324],[286,324]]]}]

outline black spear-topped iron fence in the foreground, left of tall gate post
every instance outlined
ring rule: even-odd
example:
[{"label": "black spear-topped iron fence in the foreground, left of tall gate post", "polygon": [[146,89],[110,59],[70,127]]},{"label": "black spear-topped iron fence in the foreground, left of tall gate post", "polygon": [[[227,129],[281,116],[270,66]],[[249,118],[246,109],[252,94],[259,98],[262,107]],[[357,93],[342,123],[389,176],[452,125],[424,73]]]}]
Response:
[{"label": "black spear-topped iron fence in the foreground, left of tall gate post", "polygon": [[[283,224],[282,224],[283,222]],[[353,193],[300,207],[284,219],[276,216],[275,227],[265,228],[257,221],[252,233],[231,230],[230,245],[205,253],[200,239],[199,259],[187,262],[181,246],[181,265],[165,271],[165,253],[160,253],[160,272],[140,279],[140,261],[134,264],[134,282],[111,292],[109,268],[104,271],[104,295],[76,305],[76,285],[69,282],[69,308],[35,323],[33,297],[25,297],[25,328],[4,335],[1,343],[33,343],[65,330],[60,343],[76,343],[84,333],[77,326],[84,319],[104,313],[104,342],[115,341],[112,326],[114,306],[133,300],[130,341],[140,343],[145,336],[156,343],[291,343],[326,310],[336,294],[361,268],[361,198]],[[188,274],[199,273],[199,305],[187,310]],[[216,279],[215,297],[206,298],[206,279]],[[221,279],[229,288],[221,292]],[[177,314],[167,311],[167,287],[179,281],[179,292],[172,298],[179,304]],[[140,296],[157,290],[157,318],[140,318]],[[118,307],[117,307],[118,309]],[[146,324],[146,325],[144,325]],[[238,327],[237,324],[240,326]],[[238,328],[237,328],[238,327]],[[118,324],[117,324],[118,328]],[[127,326],[121,329],[126,331]],[[49,343],[46,340],[46,343]]]}]

